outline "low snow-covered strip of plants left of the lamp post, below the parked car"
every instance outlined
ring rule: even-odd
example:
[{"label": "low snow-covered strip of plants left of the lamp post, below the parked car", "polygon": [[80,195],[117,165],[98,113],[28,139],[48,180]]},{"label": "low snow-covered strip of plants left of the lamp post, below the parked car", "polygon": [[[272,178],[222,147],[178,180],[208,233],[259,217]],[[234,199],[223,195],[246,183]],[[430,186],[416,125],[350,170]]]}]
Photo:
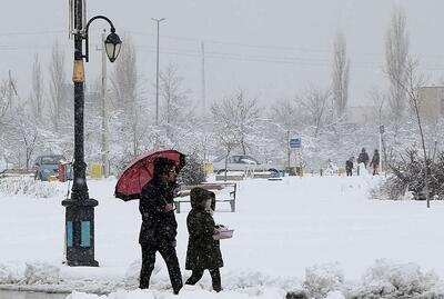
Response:
[{"label": "low snow-covered strip of plants left of the lamp post, below the parked car", "polygon": [[3,178],[0,180],[0,193],[6,196],[30,196],[34,198],[61,197],[67,193],[62,182],[36,181],[30,177]]}]

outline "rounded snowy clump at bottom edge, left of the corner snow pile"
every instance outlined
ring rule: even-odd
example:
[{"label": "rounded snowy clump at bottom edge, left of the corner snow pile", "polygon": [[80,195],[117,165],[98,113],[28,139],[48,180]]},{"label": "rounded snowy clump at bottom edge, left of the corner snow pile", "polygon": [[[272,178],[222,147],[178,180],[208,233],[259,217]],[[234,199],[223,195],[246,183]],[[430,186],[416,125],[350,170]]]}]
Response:
[{"label": "rounded snowy clump at bottom edge, left of the corner snow pile", "polygon": [[311,298],[325,298],[344,283],[344,275],[337,263],[315,265],[305,269],[304,289]]}]

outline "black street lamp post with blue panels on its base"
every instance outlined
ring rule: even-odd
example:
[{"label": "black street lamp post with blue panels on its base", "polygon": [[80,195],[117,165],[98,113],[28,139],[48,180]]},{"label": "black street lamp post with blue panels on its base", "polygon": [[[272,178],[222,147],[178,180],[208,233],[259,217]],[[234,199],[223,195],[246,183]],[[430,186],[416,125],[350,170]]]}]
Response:
[{"label": "black street lamp post with blue panels on its base", "polygon": [[[89,198],[84,162],[83,147],[83,107],[84,107],[84,68],[83,58],[89,60],[88,29],[95,19],[108,21],[111,33],[105,40],[107,54],[111,62],[120,52],[121,40],[115,34],[112,22],[103,16],[93,17],[82,28],[84,0],[74,0],[74,68],[72,81],[74,82],[74,163],[71,198],[62,201],[67,207],[65,213],[65,248],[67,263],[69,266],[92,266],[98,267],[94,260],[94,207],[99,205],[95,199]],[[82,43],[85,40],[85,54],[82,51]]]}]

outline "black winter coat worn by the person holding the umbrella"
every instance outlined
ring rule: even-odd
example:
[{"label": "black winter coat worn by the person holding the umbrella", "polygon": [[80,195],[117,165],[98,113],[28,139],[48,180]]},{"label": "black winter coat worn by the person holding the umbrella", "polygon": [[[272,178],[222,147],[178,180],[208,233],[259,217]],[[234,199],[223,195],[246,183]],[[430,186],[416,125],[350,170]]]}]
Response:
[{"label": "black winter coat worn by the person holding the umbrella", "polygon": [[174,211],[165,212],[165,205],[173,203],[173,188],[160,180],[151,180],[142,188],[139,211],[142,215],[139,243],[160,245],[175,242],[178,222]]}]

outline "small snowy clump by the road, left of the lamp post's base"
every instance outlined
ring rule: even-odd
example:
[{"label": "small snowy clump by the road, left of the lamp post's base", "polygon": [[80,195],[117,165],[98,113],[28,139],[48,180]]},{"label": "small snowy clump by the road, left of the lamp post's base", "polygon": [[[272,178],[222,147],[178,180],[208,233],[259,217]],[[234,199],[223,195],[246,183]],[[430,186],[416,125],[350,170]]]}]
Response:
[{"label": "small snowy clump by the road, left of the lamp post's base", "polygon": [[27,263],[24,269],[24,281],[27,285],[33,283],[58,283],[60,280],[60,269],[46,262]]}]

